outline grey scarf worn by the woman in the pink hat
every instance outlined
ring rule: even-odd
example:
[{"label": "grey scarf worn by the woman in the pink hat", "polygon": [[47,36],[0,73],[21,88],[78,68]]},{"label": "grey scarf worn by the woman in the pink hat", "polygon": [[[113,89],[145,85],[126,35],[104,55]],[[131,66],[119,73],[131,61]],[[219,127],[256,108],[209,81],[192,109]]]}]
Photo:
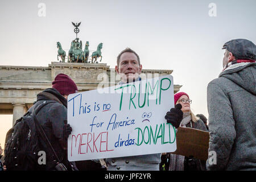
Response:
[{"label": "grey scarf worn by the woman in the pink hat", "polygon": [[[186,127],[191,122],[190,112],[183,113],[183,119],[180,122],[180,127]],[[170,154],[170,166],[169,171],[184,171],[184,159],[183,155]]]}]

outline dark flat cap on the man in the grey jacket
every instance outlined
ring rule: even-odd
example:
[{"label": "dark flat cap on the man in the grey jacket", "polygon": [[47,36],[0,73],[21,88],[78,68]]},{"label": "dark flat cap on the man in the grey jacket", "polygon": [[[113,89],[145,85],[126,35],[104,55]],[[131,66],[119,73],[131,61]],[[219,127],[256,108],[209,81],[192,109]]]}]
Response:
[{"label": "dark flat cap on the man in the grey jacket", "polygon": [[232,52],[236,59],[256,61],[256,46],[250,40],[233,39],[226,42],[222,49]]}]

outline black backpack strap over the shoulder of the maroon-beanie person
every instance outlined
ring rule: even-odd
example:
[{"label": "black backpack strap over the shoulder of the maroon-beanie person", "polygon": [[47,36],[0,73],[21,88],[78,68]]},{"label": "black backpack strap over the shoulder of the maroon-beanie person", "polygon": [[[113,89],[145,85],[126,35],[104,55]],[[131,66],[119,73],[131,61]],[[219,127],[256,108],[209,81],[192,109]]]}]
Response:
[{"label": "black backpack strap over the shoulder of the maroon-beanie person", "polygon": [[39,134],[40,134],[41,138],[42,138],[42,139],[44,140],[44,142],[48,145],[48,147],[51,148],[53,154],[55,155],[55,157],[56,157],[56,159],[57,159],[57,161],[58,161],[58,163],[60,163],[60,159],[58,158],[58,156],[57,156],[55,150],[54,150],[53,147],[52,147],[51,142],[49,142],[49,139],[47,138],[46,133],[44,133],[44,130],[43,130],[42,126],[40,125],[40,123],[39,123],[39,121],[38,121],[38,118],[36,117],[36,114],[38,113],[38,111],[39,111],[40,109],[42,109],[42,107],[44,107],[45,105],[50,104],[50,103],[56,103],[56,101],[49,101],[49,102],[44,101],[42,104],[40,104],[40,105],[36,108],[36,112],[35,112],[35,108],[32,107],[32,108],[31,108],[31,109],[32,109],[32,117],[34,118],[34,121],[35,121],[36,126],[38,126],[38,129],[39,129],[38,131],[39,131]]}]

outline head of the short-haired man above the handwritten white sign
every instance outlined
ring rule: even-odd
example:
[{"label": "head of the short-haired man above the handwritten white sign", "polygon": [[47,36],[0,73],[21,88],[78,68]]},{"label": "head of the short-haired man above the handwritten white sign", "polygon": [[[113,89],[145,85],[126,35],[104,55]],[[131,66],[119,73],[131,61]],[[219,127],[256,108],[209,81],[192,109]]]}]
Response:
[{"label": "head of the short-haired man above the handwritten white sign", "polygon": [[142,71],[138,54],[130,48],[124,49],[117,56],[115,71],[121,74],[123,82],[131,82],[137,79]]}]

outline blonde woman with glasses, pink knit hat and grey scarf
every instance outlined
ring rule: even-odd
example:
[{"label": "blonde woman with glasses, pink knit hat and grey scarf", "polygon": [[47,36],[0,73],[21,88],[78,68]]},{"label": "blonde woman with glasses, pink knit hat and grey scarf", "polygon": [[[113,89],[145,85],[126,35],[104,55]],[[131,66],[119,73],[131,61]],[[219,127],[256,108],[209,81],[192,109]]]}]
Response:
[{"label": "blonde woman with glasses, pink knit hat and grey scarf", "polygon": [[[196,117],[195,114],[191,111],[192,101],[189,99],[189,96],[185,92],[179,92],[174,95],[175,109],[180,109],[183,111],[183,119],[180,123],[174,123],[177,127],[191,127],[194,129],[207,131],[207,128],[204,125],[204,122],[200,118]],[[168,113],[167,113],[168,115]],[[168,122],[168,117],[166,117]],[[172,122],[171,122],[172,123]],[[183,155],[170,154],[169,158],[169,171],[201,171],[205,170],[205,161],[200,161],[195,159],[192,156],[186,157]]]}]

